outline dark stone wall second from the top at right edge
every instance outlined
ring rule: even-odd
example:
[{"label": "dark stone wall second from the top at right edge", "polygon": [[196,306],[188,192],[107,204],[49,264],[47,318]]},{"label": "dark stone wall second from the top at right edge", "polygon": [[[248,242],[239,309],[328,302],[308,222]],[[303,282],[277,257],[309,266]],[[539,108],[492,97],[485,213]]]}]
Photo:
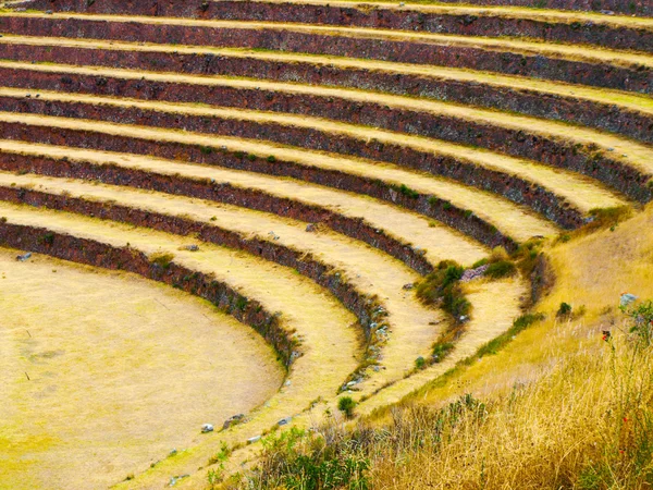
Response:
[{"label": "dark stone wall second from the top at right edge", "polygon": [[[90,3],[90,4],[89,4]],[[300,2],[130,2],[122,0],[36,0],[29,9],[88,14],[128,14],[205,20],[266,21],[301,24],[402,29],[464,36],[531,37],[557,42],[583,42],[615,49],[640,49],[653,52],[653,32],[593,22],[538,20],[517,13],[488,11],[481,15],[429,12],[383,5],[330,5]],[[390,7],[390,5],[389,5]],[[614,9],[612,9],[614,10]],[[629,12],[630,13],[630,12]]]}]

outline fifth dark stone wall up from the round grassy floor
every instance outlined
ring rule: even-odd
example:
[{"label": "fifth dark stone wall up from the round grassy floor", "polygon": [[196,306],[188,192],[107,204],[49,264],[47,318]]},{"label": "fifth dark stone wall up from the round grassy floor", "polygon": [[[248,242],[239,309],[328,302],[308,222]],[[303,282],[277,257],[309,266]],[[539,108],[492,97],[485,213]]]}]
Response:
[{"label": "fifth dark stone wall up from the round grassy floor", "polygon": [[[566,229],[575,229],[584,223],[582,212],[571,206],[565,198],[556,195],[543,185],[528,181],[516,174],[489,169],[460,158],[436,155],[431,151],[408,148],[398,144],[384,144],[374,138],[362,140],[344,134],[331,134],[319,128],[291,126],[274,122],[188,115],[159,110],[143,110],[134,107],[127,108],[87,102],[60,102],[36,98],[0,97],[0,110],[71,119],[131,123],[171,130],[184,128],[201,134],[218,134],[263,142],[269,140],[299,148],[385,161],[412,170],[427,171],[434,175],[453,179],[471,187],[492,192],[518,205],[528,206]],[[572,162],[566,162],[562,158],[564,155],[557,155],[557,161],[560,166],[571,167]],[[648,181],[645,176],[640,175],[629,167],[623,166],[618,169],[623,172],[630,172],[642,181]],[[602,169],[597,168],[596,170],[600,171]],[[603,176],[600,172],[597,173],[600,176]],[[619,185],[621,183],[618,179],[619,176],[617,175],[617,179],[614,179],[614,184]],[[621,187],[631,197],[637,196],[639,200],[649,200],[651,189],[646,186],[636,186],[633,182],[629,182],[629,185]],[[642,196],[642,188],[648,194]]]}]

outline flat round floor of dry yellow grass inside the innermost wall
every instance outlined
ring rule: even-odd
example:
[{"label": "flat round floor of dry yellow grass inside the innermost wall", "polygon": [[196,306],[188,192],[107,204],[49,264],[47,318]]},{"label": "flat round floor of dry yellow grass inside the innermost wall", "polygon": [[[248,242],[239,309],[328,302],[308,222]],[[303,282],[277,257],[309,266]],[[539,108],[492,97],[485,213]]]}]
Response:
[{"label": "flat round floor of dry yellow grass inside the innermost wall", "polygon": [[1,488],[106,488],[281,385],[263,339],[207,303],[19,253],[0,249]]}]

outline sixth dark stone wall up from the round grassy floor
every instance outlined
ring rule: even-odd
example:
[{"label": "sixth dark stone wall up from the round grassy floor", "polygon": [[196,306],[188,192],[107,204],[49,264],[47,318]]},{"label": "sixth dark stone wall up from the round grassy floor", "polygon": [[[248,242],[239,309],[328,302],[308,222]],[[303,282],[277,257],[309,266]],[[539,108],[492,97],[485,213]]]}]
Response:
[{"label": "sixth dark stone wall up from the round grassy floor", "polygon": [[[0,74],[2,71],[0,70]],[[419,112],[411,109],[389,107],[375,102],[353,102],[348,99],[338,97],[325,97],[308,94],[287,94],[274,90],[249,89],[220,87],[215,89],[210,85],[177,84],[163,82],[148,82],[143,79],[121,79],[104,76],[88,75],[66,75],[66,83],[62,83],[59,74],[52,73],[28,73],[21,78],[21,73],[10,73],[8,84],[13,82],[19,86],[30,87],[33,89],[42,88],[51,90],[61,90],[67,93],[83,93],[103,96],[120,96],[145,100],[165,100],[173,102],[199,102],[223,107],[235,107],[260,111],[287,112],[296,114],[313,115],[328,118],[353,124],[369,125],[372,127],[383,127],[391,131],[417,134],[421,136],[433,137],[456,144],[480,146],[506,155],[532,159],[555,167],[566,167],[571,169],[582,169],[587,167],[587,161],[600,162],[611,169],[623,169],[620,172],[629,173],[627,166],[613,160],[604,154],[596,154],[595,148],[584,145],[574,144],[572,140],[563,140],[556,137],[547,137],[539,133],[530,133],[528,130],[513,130],[491,125],[489,123],[476,123],[472,120],[455,118],[451,115],[440,115],[432,112]],[[30,77],[26,77],[32,75]],[[0,100],[2,100],[0,98]],[[38,102],[29,101],[28,105]],[[45,102],[40,102],[41,105]],[[17,109],[10,109],[17,110]],[[86,115],[79,115],[85,118]],[[132,121],[137,124],[151,120],[151,115],[138,118],[138,122],[128,114],[122,114],[126,119],[121,121]],[[94,118],[94,117],[91,117]],[[115,115],[111,115],[115,121]],[[95,119],[95,118],[94,118]],[[186,128],[193,131],[206,131],[206,124],[194,123],[188,118],[184,121],[175,118],[175,124],[184,124]],[[157,123],[171,126],[170,122],[158,121]],[[145,122],[147,124],[147,122]],[[243,123],[245,124],[245,122]],[[226,133],[222,133],[226,134]],[[283,143],[294,145],[293,140]],[[431,170],[433,171],[433,170]],[[433,171],[438,173],[436,171]],[[584,172],[583,172],[584,173]],[[452,175],[448,175],[452,176]],[[642,179],[645,184],[646,177]],[[606,182],[606,181],[604,181]],[[606,182],[608,183],[608,182]],[[651,198],[651,192],[648,188],[638,189],[629,183],[627,186],[619,186],[609,182],[615,188],[629,195],[631,198],[640,201],[648,201]],[[496,187],[486,186],[486,189],[493,192]],[[626,192],[624,191],[626,189]],[[518,201],[526,204],[525,201]],[[572,226],[572,221],[560,219],[556,211],[545,210],[546,207],[540,206],[538,209],[545,216],[554,219],[563,226]],[[553,217],[553,218],[552,218]]]}]

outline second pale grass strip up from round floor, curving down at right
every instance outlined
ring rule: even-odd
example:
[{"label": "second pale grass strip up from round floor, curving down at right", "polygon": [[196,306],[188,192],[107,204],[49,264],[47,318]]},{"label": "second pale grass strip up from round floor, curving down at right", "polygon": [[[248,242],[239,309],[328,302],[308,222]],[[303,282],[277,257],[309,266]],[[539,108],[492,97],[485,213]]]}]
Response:
[{"label": "second pale grass strip up from round floor, curving down at right", "polygon": [[[347,290],[349,296],[356,293],[362,293],[367,298],[378,296],[379,303],[387,311],[387,316],[382,320],[390,326],[390,340],[381,346],[380,365],[384,370],[374,373],[370,380],[358,385],[364,393],[372,392],[390,381],[401,379],[406,370],[414,367],[412,363],[418,356],[428,356],[431,344],[442,330],[442,324],[445,323],[441,313],[426,308],[415,295],[403,290],[405,284],[420,279],[415,271],[370,246],[340,234],[323,231],[307,233],[306,223],[299,221],[235,206],[215,206],[214,203],[201,199],[189,199],[182,196],[98,184],[97,182],[88,183],[78,180],[0,172],[0,195],[12,195],[10,192],[12,187],[16,187],[19,194],[24,194],[22,200],[34,203],[34,205],[46,203],[49,208],[59,209],[60,205],[56,204],[57,197],[63,196],[71,199],[64,205],[69,211],[79,215],[93,212],[96,216],[99,216],[98,212],[94,212],[94,208],[90,206],[85,207],[85,201],[99,203],[104,206],[121,206],[135,212],[144,211],[146,216],[152,215],[148,222],[170,221],[172,224],[176,218],[197,223],[202,228],[217,226],[231,233],[237,233],[243,237],[246,236],[247,241],[256,241],[261,244],[272,242],[278,247],[283,246],[291,250],[297,250],[298,255],[311,254],[319,262],[334,267],[337,272],[333,273],[338,277],[342,274],[341,281],[347,282],[354,287],[354,290]],[[25,189],[25,192],[21,193],[20,189]],[[38,200],[30,199],[30,192],[39,194]],[[78,205],[73,204],[73,199]],[[131,215],[126,213],[125,216]],[[133,213],[133,219],[135,221],[125,221],[125,223],[141,224],[135,213]],[[159,228],[158,223],[152,224],[152,228],[168,231],[164,226]],[[193,230],[189,229],[189,231]],[[271,231],[272,236],[270,235]],[[199,238],[206,241],[204,236],[200,234]],[[229,243],[215,242],[215,244],[234,247],[232,241]],[[200,250],[202,248],[204,244],[200,245]],[[479,248],[477,259],[483,256],[484,250]],[[283,259],[281,253],[279,257]],[[282,260],[279,261],[285,265]],[[306,259],[305,262],[309,264],[309,260]],[[297,295],[295,295],[296,297]],[[341,297],[341,299],[346,301],[347,298]],[[360,301],[355,302],[357,306],[359,303]],[[356,311],[353,313],[356,314]],[[432,327],[433,323],[441,324],[441,327]]]}]

